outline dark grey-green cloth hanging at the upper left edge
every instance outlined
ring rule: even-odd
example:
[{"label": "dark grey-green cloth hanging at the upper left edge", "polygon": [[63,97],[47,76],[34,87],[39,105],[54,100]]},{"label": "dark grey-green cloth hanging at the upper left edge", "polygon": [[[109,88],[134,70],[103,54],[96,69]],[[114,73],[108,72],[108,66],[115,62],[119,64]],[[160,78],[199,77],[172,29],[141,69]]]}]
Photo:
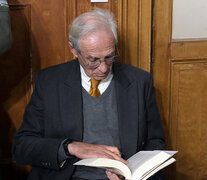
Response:
[{"label": "dark grey-green cloth hanging at the upper left edge", "polygon": [[0,55],[11,47],[9,7],[0,5]]}]

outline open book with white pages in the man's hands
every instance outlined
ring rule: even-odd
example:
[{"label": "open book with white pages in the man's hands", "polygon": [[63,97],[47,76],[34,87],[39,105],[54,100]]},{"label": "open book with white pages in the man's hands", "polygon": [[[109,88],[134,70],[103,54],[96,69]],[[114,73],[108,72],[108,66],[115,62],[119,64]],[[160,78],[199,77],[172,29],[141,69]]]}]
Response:
[{"label": "open book with white pages in the man's hands", "polygon": [[128,180],[145,180],[150,176],[172,164],[176,160],[172,157],[177,151],[139,151],[124,164],[117,160],[106,158],[92,158],[80,160],[74,165],[99,167],[110,169]]}]

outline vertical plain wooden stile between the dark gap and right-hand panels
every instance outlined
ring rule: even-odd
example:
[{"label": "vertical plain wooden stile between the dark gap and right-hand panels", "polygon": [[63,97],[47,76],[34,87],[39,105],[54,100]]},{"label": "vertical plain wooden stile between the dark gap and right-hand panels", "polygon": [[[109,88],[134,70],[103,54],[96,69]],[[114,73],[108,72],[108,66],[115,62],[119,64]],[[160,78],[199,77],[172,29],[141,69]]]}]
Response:
[{"label": "vertical plain wooden stile between the dark gap and right-hand panels", "polygon": [[[153,30],[153,62],[152,71],[156,98],[159,106],[161,119],[168,139],[169,127],[169,86],[170,86],[170,63],[169,43],[171,42],[171,8],[172,0],[154,0],[154,30]],[[167,146],[170,146],[168,139]]]}]

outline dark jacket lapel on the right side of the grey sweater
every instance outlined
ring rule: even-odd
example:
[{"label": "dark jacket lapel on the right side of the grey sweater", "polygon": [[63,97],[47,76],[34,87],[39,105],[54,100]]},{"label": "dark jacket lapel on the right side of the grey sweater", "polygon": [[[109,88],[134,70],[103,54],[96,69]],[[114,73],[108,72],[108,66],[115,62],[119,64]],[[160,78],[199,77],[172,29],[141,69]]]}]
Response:
[{"label": "dark jacket lapel on the right side of the grey sweater", "polygon": [[[128,159],[137,151],[138,143],[138,89],[136,82],[128,79],[122,65],[114,64],[121,151]],[[137,92],[137,93],[135,93]]]}]

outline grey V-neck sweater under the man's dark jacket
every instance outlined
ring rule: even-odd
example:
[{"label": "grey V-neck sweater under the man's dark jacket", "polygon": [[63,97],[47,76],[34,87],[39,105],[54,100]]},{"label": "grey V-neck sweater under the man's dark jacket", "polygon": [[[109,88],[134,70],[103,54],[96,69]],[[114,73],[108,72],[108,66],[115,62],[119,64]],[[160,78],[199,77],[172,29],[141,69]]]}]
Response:
[{"label": "grey V-neck sweater under the man's dark jacket", "polygon": [[[117,104],[114,82],[106,91],[93,98],[82,89],[84,133],[83,142],[104,144],[120,148]],[[104,169],[77,166],[74,177],[83,179],[107,179]]]}]

